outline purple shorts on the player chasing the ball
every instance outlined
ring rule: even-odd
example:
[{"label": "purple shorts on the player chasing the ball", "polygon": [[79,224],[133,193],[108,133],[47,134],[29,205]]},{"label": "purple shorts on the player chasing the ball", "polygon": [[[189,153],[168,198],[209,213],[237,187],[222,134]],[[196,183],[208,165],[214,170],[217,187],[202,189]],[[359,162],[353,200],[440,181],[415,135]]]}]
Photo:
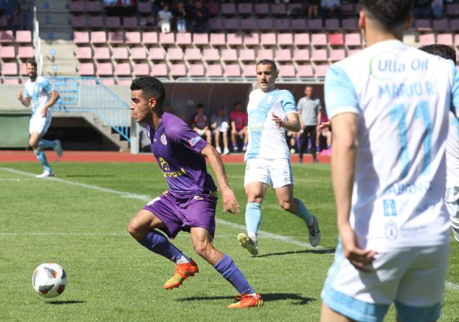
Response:
[{"label": "purple shorts on the player chasing the ball", "polygon": [[191,227],[204,228],[214,236],[217,200],[215,192],[191,196],[164,192],[142,209],[152,212],[164,222],[166,228],[162,230],[170,238],[174,238],[181,230],[189,232]]}]

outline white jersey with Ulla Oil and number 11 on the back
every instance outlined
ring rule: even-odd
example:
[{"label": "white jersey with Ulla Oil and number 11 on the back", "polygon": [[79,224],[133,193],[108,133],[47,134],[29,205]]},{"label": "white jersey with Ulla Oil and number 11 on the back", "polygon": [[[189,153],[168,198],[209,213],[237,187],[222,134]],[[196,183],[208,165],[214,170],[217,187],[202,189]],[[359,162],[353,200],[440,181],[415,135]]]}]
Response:
[{"label": "white jersey with Ulla Oil and number 11 on the back", "polygon": [[332,65],[330,119],[359,115],[351,226],[362,248],[390,251],[449,241],[443,205],[450,106],[459,110],[452,61],[378,42]]}]

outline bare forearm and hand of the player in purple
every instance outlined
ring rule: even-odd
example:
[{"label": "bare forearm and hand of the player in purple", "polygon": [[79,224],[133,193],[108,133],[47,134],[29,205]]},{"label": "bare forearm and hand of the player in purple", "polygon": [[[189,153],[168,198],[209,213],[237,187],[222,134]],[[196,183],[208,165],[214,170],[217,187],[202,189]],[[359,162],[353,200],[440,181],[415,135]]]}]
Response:
[{"label": "bare forearm and hand of the player in purple", "polygon": [[236,196],[231,188],[229,188],[228,177],[223,166],[222,159],[217,150],[210,144],[207,144],[201,151],[203,156],[207,156],[210,167],[215,173],[217,178],[217,185],[222,193],[223,210],[225,212],[231,212],[237,214],[239,212],[239,203],[236,200]]}]

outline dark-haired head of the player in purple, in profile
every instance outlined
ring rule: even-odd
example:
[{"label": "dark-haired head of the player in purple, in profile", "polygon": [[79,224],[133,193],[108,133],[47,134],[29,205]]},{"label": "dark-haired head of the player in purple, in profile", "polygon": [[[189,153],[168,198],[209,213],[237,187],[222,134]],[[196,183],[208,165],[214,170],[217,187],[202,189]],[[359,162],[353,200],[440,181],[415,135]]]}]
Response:
[{"label": "dark-haired head of the player in purple, in profile", "polygon": [[152,122],[152,113],[162,114],[162,105],[166,96],[161,81],[152,77],[138,77],[130,86],[132,117],[137,122]]}]

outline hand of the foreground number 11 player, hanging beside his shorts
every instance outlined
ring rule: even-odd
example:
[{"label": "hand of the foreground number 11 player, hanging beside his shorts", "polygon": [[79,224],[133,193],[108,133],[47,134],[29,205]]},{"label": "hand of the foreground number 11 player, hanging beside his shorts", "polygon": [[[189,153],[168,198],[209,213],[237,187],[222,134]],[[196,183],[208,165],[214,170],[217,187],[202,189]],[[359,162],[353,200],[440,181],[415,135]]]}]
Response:
[{"label": "hand of the foreground number 11 player, hanging beside his shorts", "polygon": [[357,270],[362,272],[370,272],[373,270],[370,264],[375,260],[376,251],[362,249],[358,241],[356,232],[351,225],[347,224],[339,227],[339,236],[341,237],[341,245],[343,246],[344,257]]}]

